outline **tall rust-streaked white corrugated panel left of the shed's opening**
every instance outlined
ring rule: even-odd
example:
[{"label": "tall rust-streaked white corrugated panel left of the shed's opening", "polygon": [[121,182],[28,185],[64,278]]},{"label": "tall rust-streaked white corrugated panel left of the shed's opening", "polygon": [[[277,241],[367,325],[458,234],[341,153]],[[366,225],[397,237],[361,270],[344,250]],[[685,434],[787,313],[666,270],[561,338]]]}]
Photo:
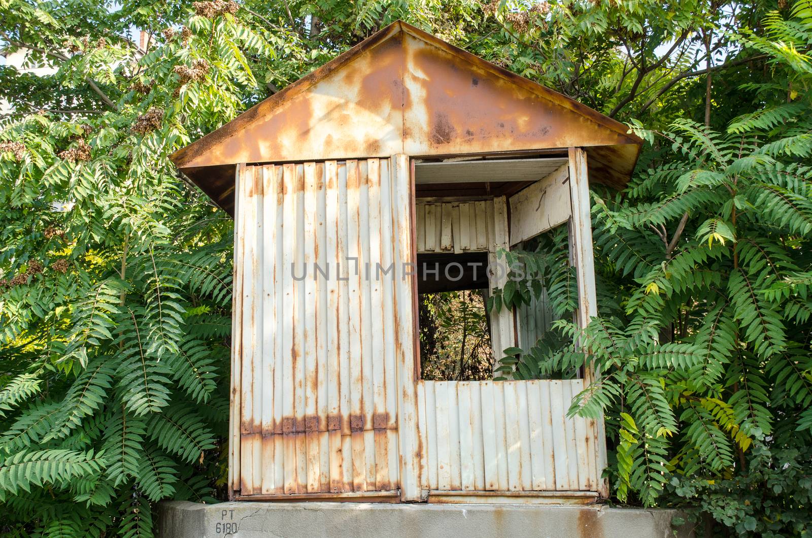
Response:
[{"label": "tall rust-streaked white corrugated panel left of the shed's opening", "polygon": [[240,495],[400,487],[396,377],[413,364],[412,279],[375,271],[411,259],[403,176],[385,158],[240,167]]}]

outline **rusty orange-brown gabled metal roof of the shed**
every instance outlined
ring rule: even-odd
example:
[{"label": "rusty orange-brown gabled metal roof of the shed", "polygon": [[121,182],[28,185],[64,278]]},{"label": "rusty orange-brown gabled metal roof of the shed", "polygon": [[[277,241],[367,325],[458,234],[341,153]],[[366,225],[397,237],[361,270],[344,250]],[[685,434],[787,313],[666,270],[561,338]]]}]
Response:
[{"label": "rusty orange-brown gabled metal roof of the shed", "polygon": [[640,145],[624,124],[397,21],[170,158],[232,213],[238,163],[583,146],[590,180],[620,188]]}]

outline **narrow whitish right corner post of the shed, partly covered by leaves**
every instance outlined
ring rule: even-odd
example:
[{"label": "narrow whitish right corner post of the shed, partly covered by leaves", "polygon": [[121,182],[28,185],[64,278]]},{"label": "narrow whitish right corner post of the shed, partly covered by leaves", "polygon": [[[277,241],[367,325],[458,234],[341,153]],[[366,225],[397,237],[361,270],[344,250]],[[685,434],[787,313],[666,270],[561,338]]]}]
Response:
[{"label": "narrow whitish right corner post of the shed, partly covered by leaves", "polygon": [[[578,326],[583,328],[598,315],[595,292],[595,263],[592,246],[592,220],[590,216],[590,184],[583,148],[568,149],[569,194],[572,204],[572,259],[576,267],[578,284]],[[584,369],[584,383],[590,384],[599,375],[594,365]],[[609,481],[601,477],[607,466],[606,432],[603,416],[594,421],[595,468],[597,490],[601,497],[609,497]]]}]

